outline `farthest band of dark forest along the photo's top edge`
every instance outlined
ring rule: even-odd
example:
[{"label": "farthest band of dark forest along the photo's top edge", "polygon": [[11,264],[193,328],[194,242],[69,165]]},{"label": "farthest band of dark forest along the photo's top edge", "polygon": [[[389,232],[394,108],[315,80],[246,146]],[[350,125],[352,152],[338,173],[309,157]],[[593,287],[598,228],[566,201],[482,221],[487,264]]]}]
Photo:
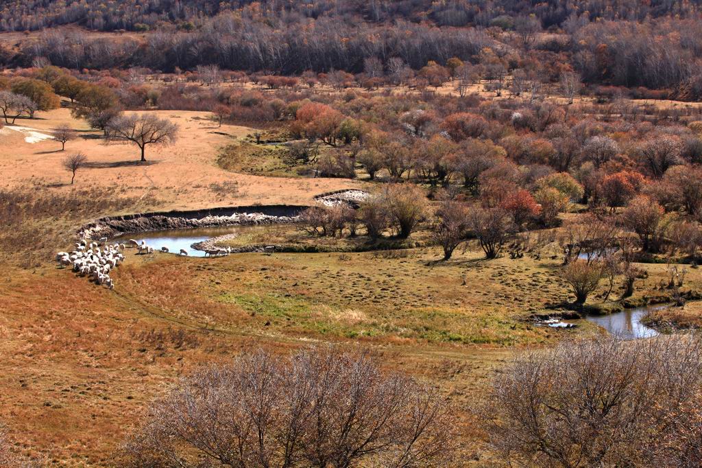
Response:
[{"label": "farthest band of dark forest along the photo's top edge", "polygon": [[[509,16],[535,15],[544,27],[561,26],[571,18],[643,20],[647,17],[698,13],[699,1],[682,0],[34,0],[6,1],[0,10],[0,30],[39,30],[77,23],[92,30],[143,30],[159,22],[201,22],[230,11],[286,23],[305,18],[341,18],[385,22],[402,18],[430,21],[438,26],[489,26]],[[501,18],[502,17],[502,18]],[[505,18],[507,17],[507,18]],[[190,26],[185,26],[190,27]]]}]

